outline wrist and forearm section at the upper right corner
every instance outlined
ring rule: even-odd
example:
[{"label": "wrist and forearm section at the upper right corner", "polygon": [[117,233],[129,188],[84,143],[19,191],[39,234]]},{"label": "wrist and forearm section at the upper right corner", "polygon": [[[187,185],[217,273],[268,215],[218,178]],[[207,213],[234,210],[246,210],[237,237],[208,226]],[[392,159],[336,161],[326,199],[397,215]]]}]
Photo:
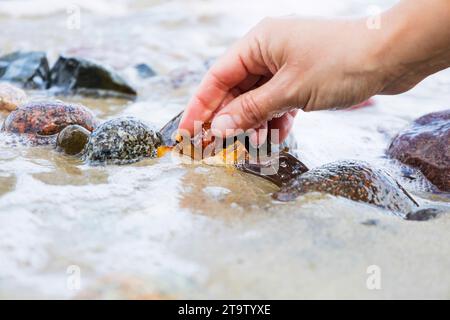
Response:
[{"label": "wrist and forearm section at the upper right corner", "polygon": [[402,1],[380,16],[374,60],[382,75],[381,93],[409,90],[450,66],[450,1]]}]

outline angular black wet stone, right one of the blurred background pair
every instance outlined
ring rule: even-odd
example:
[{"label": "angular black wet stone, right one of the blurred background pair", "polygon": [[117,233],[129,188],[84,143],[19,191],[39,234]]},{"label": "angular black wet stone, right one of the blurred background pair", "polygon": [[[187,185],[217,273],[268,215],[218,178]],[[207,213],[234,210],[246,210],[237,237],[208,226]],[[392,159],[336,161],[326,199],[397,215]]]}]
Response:
[{"label": "angular black wet stone, right one of the blurred background pair", "polygon": [[50,77],[52,88],[65,94],[136,96],[136,91],[117,72],[86,59],[60,56]]}]

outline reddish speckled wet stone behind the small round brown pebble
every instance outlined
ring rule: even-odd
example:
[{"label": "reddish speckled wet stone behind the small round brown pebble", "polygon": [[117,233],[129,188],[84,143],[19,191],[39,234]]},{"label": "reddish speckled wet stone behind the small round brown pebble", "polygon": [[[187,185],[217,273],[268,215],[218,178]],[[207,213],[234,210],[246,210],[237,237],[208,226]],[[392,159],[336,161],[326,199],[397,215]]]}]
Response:
[{"label": "reddish speckled wet stone behind the small round brown pebble", "polygon": [[80,104],[58,101],[30,102],[11,112],[2,130],[23,135],[35,144],[55,141],[55,135],[69,125],[79,125],[94,130],[97,120],[89,109]]}]

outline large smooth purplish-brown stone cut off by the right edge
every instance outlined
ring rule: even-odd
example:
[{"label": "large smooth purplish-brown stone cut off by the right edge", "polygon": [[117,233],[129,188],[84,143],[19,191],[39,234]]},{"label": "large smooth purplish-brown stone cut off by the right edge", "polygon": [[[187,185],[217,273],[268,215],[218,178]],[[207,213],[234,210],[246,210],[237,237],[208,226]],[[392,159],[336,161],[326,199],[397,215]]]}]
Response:
[{"label": "large smooth purplish-brown stone cut off by the right edge", "polygon": [[397,135],[387,154],[450,191],[450,110],[427,114]]}]

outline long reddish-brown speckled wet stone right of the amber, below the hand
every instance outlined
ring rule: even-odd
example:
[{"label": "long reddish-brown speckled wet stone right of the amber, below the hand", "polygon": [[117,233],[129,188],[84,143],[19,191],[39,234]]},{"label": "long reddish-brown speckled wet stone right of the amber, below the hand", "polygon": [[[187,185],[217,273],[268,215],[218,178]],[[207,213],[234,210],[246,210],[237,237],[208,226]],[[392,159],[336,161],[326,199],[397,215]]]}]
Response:
[{"label": "long reddish-brown speckled wet stone right of the amber, below the hand", "polygon": [[413,197],[388,173],[356,161],[338,161],[303,173],[274,194],[279,201],[309,192],[327,193],[407,214],[418,208]]}]

